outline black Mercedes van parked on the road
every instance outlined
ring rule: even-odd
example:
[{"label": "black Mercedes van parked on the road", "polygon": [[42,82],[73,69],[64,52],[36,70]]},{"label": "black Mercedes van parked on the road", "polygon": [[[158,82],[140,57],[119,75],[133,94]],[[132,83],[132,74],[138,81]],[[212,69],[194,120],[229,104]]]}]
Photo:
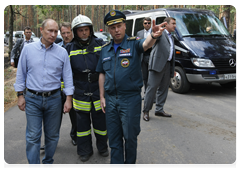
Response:
[{"label": "black Mercedes van parked on the road", "polygon": [[191,84],[217,82],[226,88],[238,86],[238,44],[212,11],[186,8],[123,11],[126,34],[136,36],[143,29],[142,20],[150,17],[156,24],[165,17],[176,19],[172,33],[175,42],[176,76],[170,87],[186,93]]}]

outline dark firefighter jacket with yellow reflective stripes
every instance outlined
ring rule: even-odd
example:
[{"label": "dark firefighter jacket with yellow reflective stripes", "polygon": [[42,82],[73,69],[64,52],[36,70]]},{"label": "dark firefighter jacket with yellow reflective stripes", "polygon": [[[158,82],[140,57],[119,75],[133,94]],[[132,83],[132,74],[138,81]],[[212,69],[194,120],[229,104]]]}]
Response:
[{"label": "dark firefighter jacket with yellow reflective stripes", "polygon": [[66,47],[73,72],[73,108],[76,111],[89,112],[91,107],[101,110],[98,73],[95,70],[104,44],[102,39],[92,36],[86,45],[73,39]]}]

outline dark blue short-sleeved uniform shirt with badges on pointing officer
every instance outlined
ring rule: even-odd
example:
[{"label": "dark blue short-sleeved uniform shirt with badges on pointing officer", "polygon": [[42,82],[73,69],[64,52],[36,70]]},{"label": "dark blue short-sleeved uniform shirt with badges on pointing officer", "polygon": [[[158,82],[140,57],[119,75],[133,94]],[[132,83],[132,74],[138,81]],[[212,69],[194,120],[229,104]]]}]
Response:
[{"label": "dark blue short-sleeved uniform shirt with badges on pointing officer", "polygon": [[109,95],[141,92],[143,86],[141,56],[145,39],[129,38],[126,34],[114,51],[113,41],[103,46],[96,68],[105,74],[104,89]]}]

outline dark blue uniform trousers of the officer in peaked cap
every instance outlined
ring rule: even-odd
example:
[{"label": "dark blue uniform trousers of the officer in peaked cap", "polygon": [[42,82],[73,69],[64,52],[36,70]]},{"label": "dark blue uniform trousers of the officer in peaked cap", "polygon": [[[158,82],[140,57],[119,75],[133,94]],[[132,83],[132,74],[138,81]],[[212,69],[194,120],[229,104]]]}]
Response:
[{"label": "dark blue uniform trousers of the officer in peaked cap", "polygon": [[137,136],[140,133],[141,95],[140,93],[118,95],[117,99],[116,96],[105,93],[105,99],[107,131],[111,148],[110,167],[135,168]]}]

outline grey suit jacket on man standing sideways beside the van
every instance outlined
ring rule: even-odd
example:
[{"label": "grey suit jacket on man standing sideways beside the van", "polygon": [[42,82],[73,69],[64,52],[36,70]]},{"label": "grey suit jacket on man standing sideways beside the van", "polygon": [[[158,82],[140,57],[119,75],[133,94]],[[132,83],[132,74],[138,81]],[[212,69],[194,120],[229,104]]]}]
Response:
[{"label": "grey suit jacket on man standing sideways beside the van", "polygon": [[[170,76],[174,76],[174,68],[175,68],[175,47],[174,47],[174,39],[172,37],[173,42],[173,56],[171,60],[170,67]],[[149,66],[148,70],[153,70],[156,72],[161,72],[167,63],[168,57],[170,54],[170,42],[166,31],[163,31],[162,35],[158,37],[156,43],[152,47],[152,51],[149,58]]]}]

